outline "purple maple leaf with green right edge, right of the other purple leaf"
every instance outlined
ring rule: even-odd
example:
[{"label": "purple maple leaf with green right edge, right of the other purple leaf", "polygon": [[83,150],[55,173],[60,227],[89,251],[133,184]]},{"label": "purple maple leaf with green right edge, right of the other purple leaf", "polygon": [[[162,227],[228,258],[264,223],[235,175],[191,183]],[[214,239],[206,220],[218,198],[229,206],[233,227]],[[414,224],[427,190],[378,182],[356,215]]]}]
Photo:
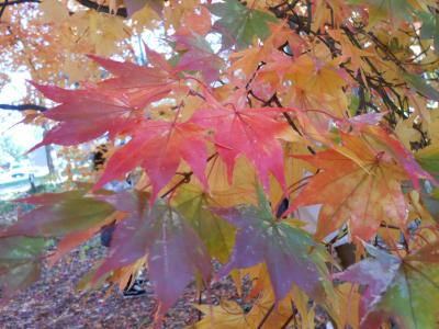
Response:
[{"label": "purple maple leaf with green right edge, right of the other purple leaf", "polygon": [[277,300],[286,296],[293,283],[313,298],[325,295],[322,286],[325,251],[304,230],[277,222],[261,191],[258,208],[217,208],[215,213],[237,227],[235,248],[219,276],[233,269],[266,262]]}]

